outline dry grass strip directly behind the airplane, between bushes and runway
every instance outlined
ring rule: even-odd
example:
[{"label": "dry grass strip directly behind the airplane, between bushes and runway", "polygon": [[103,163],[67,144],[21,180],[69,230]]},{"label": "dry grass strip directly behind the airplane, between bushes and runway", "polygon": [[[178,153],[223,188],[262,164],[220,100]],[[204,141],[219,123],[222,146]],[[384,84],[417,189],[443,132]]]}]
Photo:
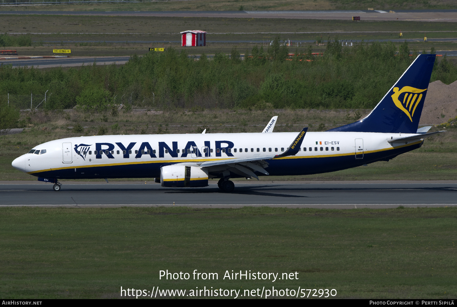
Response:
[{"label": "dry grass strip directly behind the airplane, between bushes and runway", "polygon": [[[160,113],[163,112],[163,113]],[[17,171],[11,161],[34,146],[50,140],[70,136],[104,134],[161,134],[260,132],[273,115],[279,115],[275,132],[328,130],[347,124],[365,115],[369,110],[171,110],[159,114],[145,112],[107,113],[83,112],[23,112],[22,121],[27,129],[20,134],[3,135],[0,140],[0,180],[36,180],[36,177]],[[74,132],[75,125],[84,127]],[[324,128],[322,125],[324,124]],[[321,125],[319,127],[319,125]],[[69,128],[70,127],[70,128]],[[103,127],[103,128],[101,128]],[[439,130],[432,128],[430,131]],[[457,178],[457,131],[448,129],[445,134],[425,139],[424,145],[385,162],[366,167],[308,176],[260,177],[265,181],[284,180],[455,180]],[[144,178],[151,181],[152,178]],[[121,180],[121,179],[119,179]],[[125,179],[122,179],[125,180]],[[139,180],[139,179],[127,179]],[[97,180],[96,180],[97,181]],[[112,181],[116,181],[113,179]]]}]

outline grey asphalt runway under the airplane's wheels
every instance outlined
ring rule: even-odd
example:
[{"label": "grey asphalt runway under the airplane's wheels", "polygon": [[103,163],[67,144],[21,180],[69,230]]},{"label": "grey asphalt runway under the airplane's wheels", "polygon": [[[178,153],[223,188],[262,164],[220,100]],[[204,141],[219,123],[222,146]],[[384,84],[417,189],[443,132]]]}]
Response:
[{"label": "grey asphalt runway under the airplane's wheels", "polygon": [[[214,181],[215,183],[215,181]],[[2,182],[0,207],[5,206],[192,206],[237,208],[395,208],[457,205],[457,181],[442,182],[235,182],[233,193],[216,184],[203,188],[163,188],[148,182]]]}]

